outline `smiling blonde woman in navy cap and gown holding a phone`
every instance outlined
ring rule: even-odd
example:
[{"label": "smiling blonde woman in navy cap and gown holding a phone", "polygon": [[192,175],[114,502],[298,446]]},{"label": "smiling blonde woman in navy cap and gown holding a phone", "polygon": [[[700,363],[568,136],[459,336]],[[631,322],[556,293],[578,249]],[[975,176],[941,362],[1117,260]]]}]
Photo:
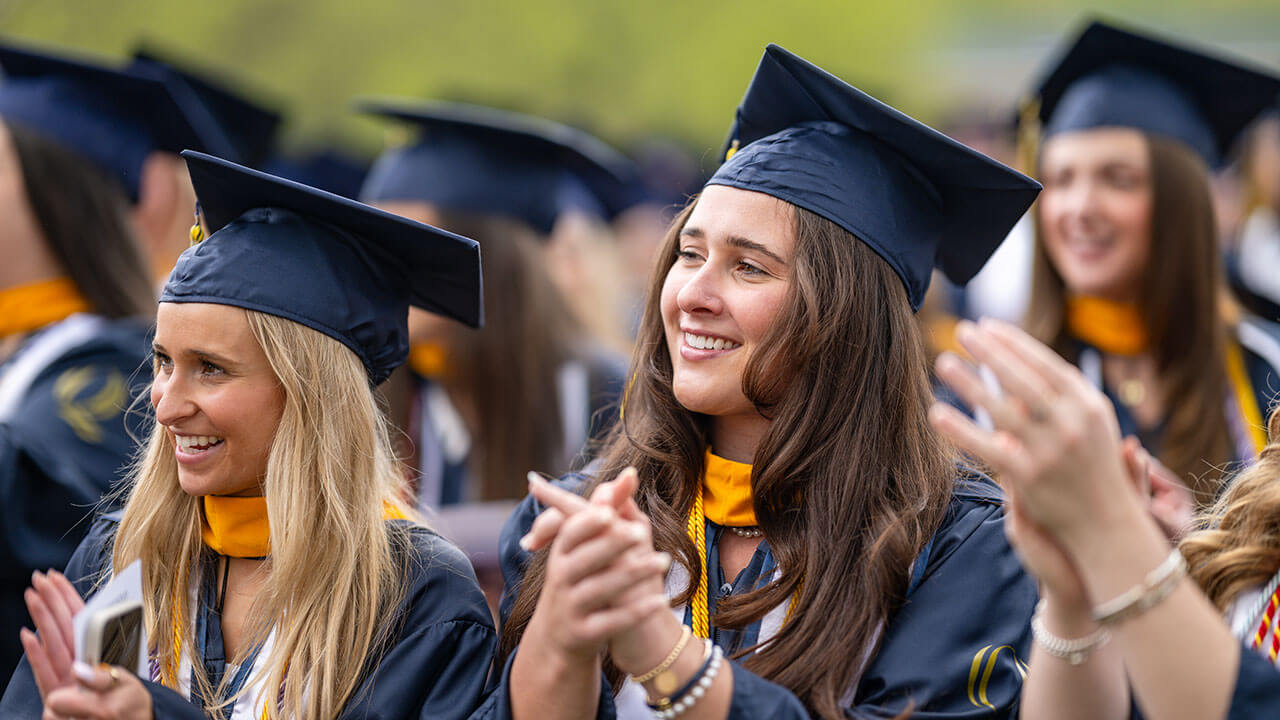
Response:
[{"label": "smiling blonde woman in navy cap and gown holding a phone", "polygon": [[[410,302],[479,324],[475,243],[187,161],[215,232],[161,295],[148,446],[76,587],[35,578],[0,715],[466,716],[492,619],[461,552],[406,519],[372,387],[404,361]],[[81,593],[136,560],[150,678],[73,664]]]}]

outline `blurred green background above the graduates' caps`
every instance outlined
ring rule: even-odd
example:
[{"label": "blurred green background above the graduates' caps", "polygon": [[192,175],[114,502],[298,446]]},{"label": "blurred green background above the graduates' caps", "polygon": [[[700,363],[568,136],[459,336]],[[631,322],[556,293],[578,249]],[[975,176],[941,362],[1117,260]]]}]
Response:
[{"label": "blurred green background above the graduates' caps", "polygon": [[1280,0],[0,0],[0,33],[111,56],[145,40],[225,69],[287,114],[292,146],[376,151],[381,126],[346,109],[375,94],[709,154],[768,42],[928,122],[996,118],[1094,10],[1280,68]]}]

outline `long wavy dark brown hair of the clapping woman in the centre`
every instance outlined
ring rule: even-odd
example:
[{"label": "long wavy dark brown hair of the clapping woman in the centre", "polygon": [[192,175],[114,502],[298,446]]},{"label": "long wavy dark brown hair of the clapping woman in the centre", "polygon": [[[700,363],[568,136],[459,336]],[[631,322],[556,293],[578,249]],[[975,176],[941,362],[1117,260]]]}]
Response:
[{"label": "long wavy dark brown hair of the clapping woman in the centre", "polygon": [[[690,577],[704,559],[686,536],[700,491],[709,419],[672,393],[659,297],[675,263],[675,222],[650,281],[622,423],[604,448],[594,483],[631,465],[636,501],[654,544]],[[781,577],[719,602],[712,623],[742,628],[799,591],[792,620],[745,665],[790,688],[820,717],[844,717],[877,629],[901,605],[908,571],[941,523],[951,493],[951,454],[925,413],[924,347],[902,282],[888,264],[835,223],[794,208],[791,287],[769,337],[753,355],[742,389],[772,419],[755,451],[755,514]],[[593,483],[593,484],[594,484]],[[545,552],[535,556],[503,626],[512,652],[538,603]],[[858,578],[858,582],[850,582]],[[803,583],[801,583],[803,579]],[[689,602],[694,588],[672,598]],[[607,664],[614,687],[621,675]]]}]

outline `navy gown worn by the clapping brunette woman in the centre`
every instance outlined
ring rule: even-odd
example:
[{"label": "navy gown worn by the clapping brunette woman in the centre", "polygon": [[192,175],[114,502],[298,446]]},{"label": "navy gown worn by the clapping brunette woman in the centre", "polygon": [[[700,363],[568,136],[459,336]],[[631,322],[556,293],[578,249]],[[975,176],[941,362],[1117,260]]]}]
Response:
[{"label": "navy gown worn by the clapping brunette woman in the centre", "polygon": [[[913,717],[919,719],[1016,717],[1037,588],[1005,539],[1001,502],[998,488],[986,478],[956,482],[946,518],[916,561],[908,601],[890,618],[881,648],[859,679],[846,715],[892,717],[914,703]],[[526,498],[503,530],[503,619],[511,612],[530,557],[520,550],[518,539],[540,510],[536,501]],[[768,552],[767,543],[762,548]],[[755,559],[749,568],[754,565]],[[751,580],[739,577],[733,585],[748,588],[754,585]],[[476,712],[476,720],[511,717],[512,659],[495,676],[495,689]],[[739,662],[730,667],[732,720],[809,717],[786,688]],[[602,688],[596,717],[612,719],[616,708],[608,683]]]}]

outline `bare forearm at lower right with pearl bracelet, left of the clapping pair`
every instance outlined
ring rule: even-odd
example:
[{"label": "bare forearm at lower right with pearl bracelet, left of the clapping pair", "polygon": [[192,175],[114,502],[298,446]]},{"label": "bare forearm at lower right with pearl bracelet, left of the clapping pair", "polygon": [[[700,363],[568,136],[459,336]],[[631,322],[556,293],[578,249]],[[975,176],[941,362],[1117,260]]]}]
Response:
[{"label": "bare forearm at lower right with pearl bracelet, left of the clapping pair", "polygon": [[[1098,629],[1087,607],[1062,607],[1051,596],[1046,597],[1043,623],[1046,630],[1060,638],[1084,638]],[[1107,643],[1080,665],[1071,665],[1036,643],[1023,683],[1021,716],[1028,720],[1125,720],[1129,684],[1119,650]]]}]

